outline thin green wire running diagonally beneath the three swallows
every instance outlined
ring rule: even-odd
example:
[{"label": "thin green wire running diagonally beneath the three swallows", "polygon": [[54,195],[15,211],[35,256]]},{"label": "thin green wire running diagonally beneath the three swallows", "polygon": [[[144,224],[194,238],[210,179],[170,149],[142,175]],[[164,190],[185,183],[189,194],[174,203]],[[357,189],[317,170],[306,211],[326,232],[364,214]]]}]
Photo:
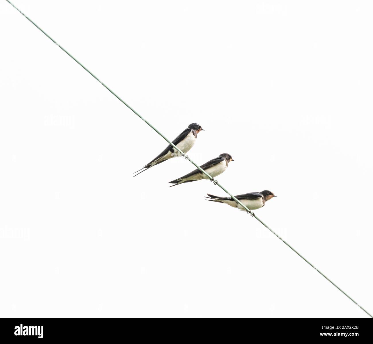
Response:
[{"label": "thin green wire running diagonally beneath the three swallows", "polygon": [[72,56],[69,52],[67,52],[62,46],[60,46],[53,38],[51,38],[45,31],[43,31],[38,25],[36,25],[30,18],[28,18],[20,9],[18,9],[14,4],[12,4],[9,0],[6,0],[8,3],[10,3],[16,10],[18,10],[19,13],[21,13],[29,22],[31,22],[35,27],[37,27],[41,32],[43,32],[44,35],[46,35],[53,43],[57,44],[66,54],[70,56],[76,63],[81,65],[89,74],[91,74],[102,86],[104,86],[110,93],[112,93],[117,99],[119,99],[125,106],[127,106],[132,112],[134,112],[138,117],[140,117],[147,125],[149,125],[153,130],[155,130],[160,136],[163,137],[173,148],[175,148],[182,156],[185,157],[186,160],[189,160],[195,167],[198,168],[202,173],[204,173],[212,182],[214,182],[215,185],[219,186],[221,189],[223,189],[228,195],[234,199],[239,205],[241,205],[247,213],[251,214],[251,216],[255,217],[261,224],[263,224],[264,227],[269,229],[274,235],[276,235],[285,245],[290,247],[299,257],[301,257],[306,263],[310,264],[320,275],[325,277],[327,281],[332,283],[339,291],[341,291],[343,294],[345,294],[353,303],[355,303],[358,307],[360,307],[365,313],[367,313],[370,317],[373,318],[371,314],[369,314],[363,307],[361,307],[354,299],[352,299],[349,295],[347,295],[339,286],[337,286],[335,283],[330,281],[329,278],[327,278],[320,270],[316,269],[307,259],[303,257],[298,251],[296,251],[294,248],[292,248],[285,240],[283,240],[280,236],[278,236],[273,230],[267,226],[262,220],[260,220],[254,213],[250,211],[242,202],[240,202],[235,196],[233,196],[228,190],[226,190],[220,183],[217,182],[217,180],[214,180],[213,177],[210,176],[206,171],[204,171],[200,166],[198,166],[192,159],[189,158],[184,152],[182,152],[178,147],[176,147],[169,139],[167,139],[166,136],[164,136],[160,131],[157,130],[157,128],[153,127],[147,120],[145,120],[138,112],[136,112],[131,106],[129,106],[122,98],[120,98],[116,93],[114,93],[109,87],[107,87],[100,79],[98,79],[92,72],[90,72],[87,68],[85,68],[84,65],[82,65],[74,56]]}]

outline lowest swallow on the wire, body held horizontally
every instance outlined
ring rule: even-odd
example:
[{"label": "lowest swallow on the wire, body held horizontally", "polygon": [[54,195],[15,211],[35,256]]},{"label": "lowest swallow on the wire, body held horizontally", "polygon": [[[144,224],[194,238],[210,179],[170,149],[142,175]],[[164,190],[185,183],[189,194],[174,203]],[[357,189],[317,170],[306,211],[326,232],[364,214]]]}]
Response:
[{"label": "lowest swallow on the wire, body held horizontally", "polygon": [[[238,208],[239,210],[245,210],[244,207],[242,207],[241,204],[238,204],[232,197],[220,197],[220,196],[214,196],[210,195],[210,193],[207,193],[209,197],[206,197],[206,201],[212,201],[212,202],[219,202],[219,203],[225,203],[230,205],[233,208]],[[264,207],[264,204],[266,202],[276,197],[273,195],[272,192],[269,190],[263,190],[262,192],[249,192],[244,193],[243,195],[237,195],[235,198],[237,198],[245,207],[249,208],[250,210],[256,210],[259,208]]]}]

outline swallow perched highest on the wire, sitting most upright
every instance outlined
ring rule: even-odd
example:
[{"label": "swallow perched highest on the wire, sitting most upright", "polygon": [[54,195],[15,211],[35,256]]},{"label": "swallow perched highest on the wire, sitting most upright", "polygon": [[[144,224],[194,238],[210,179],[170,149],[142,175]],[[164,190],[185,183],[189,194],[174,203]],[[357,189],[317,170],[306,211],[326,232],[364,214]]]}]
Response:
[{"label": "swallow perched highest on the wire, sitting most upright", "polygon": [[[188,152],[195,143],[195,140],[197,139],[197,134],[201,131],[204,130],[202,129],[201,125],[198,123],[192,123],[188,125],[188,128],[186,128],[178,137],[176,137],[175,140],[172,141],[172,143],[179,148],[182,152],[186,153]],[[174,158],[175,156],[178,156],[178,151],[171,145],[168,145],[162,153],[157,155],[152,161],[150,161],[148,164],[146,164],[144,167],[140,168],[140,170],[134,172],[137,173],[135,174],[134,177],[138,176],[140,173],[148,170],[150,167],[153,167],[155,165],[160,164],[163,161],[166,161],[168,159]]]}]

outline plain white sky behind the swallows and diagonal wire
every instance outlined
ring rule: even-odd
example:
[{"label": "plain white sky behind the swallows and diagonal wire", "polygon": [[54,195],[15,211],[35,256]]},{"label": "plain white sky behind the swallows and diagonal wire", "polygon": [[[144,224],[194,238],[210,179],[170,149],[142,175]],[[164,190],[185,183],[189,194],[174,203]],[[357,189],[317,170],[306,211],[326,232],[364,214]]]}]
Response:
[{"label": "plain white sky behind the swallows and diagonal wire", "polygon": [[[14,0],[371,313],[371,1]],[[367,317],[0,2],[3,317]]]}]

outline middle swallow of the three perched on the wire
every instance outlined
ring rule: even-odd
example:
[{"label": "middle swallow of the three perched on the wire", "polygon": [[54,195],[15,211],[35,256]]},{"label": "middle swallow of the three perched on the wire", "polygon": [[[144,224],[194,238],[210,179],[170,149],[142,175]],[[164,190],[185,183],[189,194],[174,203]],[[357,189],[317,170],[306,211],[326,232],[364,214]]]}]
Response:
[{"label": "middle swallow of the three perched on the wire", "polygon": [[[220,154],[217,158],[207,161],[206,164],[201,165],[201,168],[214,178],[216,176],[219,176],[219,174],[222,174],[227,169],[228,163],[231,161],[234,161],[232,159],[232,156],[227,153],[223,153]],[[176,186],[182,183],[194,182],[195,180],[201,179],[209,179],[209,177],[207,177],[206,174],[202,173],[197,168],[191,173],[185,174],[185,176],[172,180],[172,182],[169,182],[169,184],[174,184],[171,186]],[[214,182],[217,183],[215,180]]]}]

